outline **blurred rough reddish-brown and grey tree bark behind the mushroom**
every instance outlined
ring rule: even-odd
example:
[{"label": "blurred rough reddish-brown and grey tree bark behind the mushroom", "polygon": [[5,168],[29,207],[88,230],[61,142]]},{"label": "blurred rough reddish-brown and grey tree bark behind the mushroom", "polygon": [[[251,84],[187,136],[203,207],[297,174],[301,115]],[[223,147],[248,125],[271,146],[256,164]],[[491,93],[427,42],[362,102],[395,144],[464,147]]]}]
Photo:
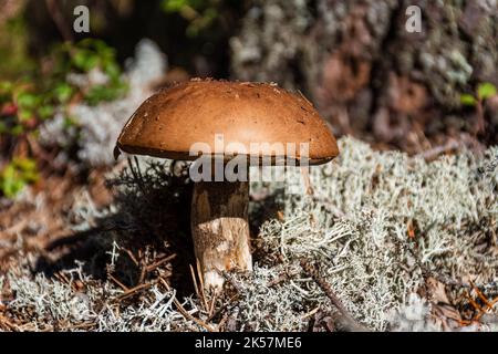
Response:
[{"label": "blurred rough reddish-brown and grey tree bark behind the mushroom", "polygon": [[[406,29],[413,7],[419,32]],[[430,147],[425,136],[473,133],[478,114],[460,94],[498,85],[492,1],[255,0],[252,8],[230,42],[232,77],[300,88],[336,135],[373,133],[417,153]],[[488,104],[485,116],[479,137],[497,144],[498,110]]]}]

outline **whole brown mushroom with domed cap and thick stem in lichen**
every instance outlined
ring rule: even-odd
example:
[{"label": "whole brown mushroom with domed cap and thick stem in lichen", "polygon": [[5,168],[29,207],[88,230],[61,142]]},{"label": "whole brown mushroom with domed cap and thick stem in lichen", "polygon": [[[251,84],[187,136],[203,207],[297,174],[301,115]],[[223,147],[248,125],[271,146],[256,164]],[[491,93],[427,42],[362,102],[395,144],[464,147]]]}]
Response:
[{"label": "whole brown mushroom with domed cap and thick stem in lichen", "polygon": [[[196,144],[200,148],[193,149]],[[305,145],[305,154],[292,145]],[[339,154],[335,138],[301,94],[276,84],[215,80],[193,80],[147,98],[124,126],[117,148],[179,160],[207,158],[221,168],[235,157],[251,165],[304,159],[318,165]],[[238,173],[247,176],[248,169]],[[248,204],[247,179],[195,183],[191,233],[205,287],[220,287],[222,271],[252,269]]]}]

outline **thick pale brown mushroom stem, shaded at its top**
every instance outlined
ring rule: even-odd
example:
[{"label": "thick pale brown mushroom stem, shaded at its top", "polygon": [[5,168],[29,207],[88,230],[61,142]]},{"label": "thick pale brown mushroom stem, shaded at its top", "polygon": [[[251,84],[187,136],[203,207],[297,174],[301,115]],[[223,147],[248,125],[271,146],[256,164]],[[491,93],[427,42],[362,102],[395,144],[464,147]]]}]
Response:
[{"label": "thick pale brown mushroom stem, shaded at its top", "polygon": [[194,185],[191,235],[207,289],[222,287],[222,271],[252,270],[248,206],[247,181]]}]

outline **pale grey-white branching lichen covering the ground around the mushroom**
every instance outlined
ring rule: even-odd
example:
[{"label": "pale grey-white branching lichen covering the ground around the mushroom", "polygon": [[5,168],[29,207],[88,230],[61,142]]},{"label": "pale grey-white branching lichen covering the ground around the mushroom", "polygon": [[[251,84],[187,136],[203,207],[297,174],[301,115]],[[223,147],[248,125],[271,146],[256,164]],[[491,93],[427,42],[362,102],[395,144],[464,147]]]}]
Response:
[{"label": "pale grey-white branching lichen covering the ground around the mushroom", "polygon": [[[497,291],[498,170],[492,163],[497,147],[483,157],[463,150],[426,163],[403,153],[374,152],[350,137],[339,144],[340,157],[311,167],[311,195],[297,170],[286,175],[286,185],[293,186],[291,192],[281,184],[251,183],[255,199],[264,195],[266,200],[273,198],[283,218],[262,223],[253,272],[227,274],[227,283],[238,293],[225,310],[232,319],[228,321],[230,329],[303,331],[318,309],[330,311],[330,299],[301,269],[301,259],[318,264],[321,277],[351,314],[377,331],[439,330],[429,316],[430,299],[414,295],[427,277],[461,284],[453,290],[454,301],[469,280],[486,293]],[[154,170],[141,169],[147,183]],[[151,180],[154,188],[168,188],[158,177]],[[136,191],[128,187],[127,192]],[[131,198],[125,206],[132,207],[131,200],[138,202],[136,195]],[[252,209],[258,205],[253,202]],[[84,219],[94,218],[92,210],[83,208],[76,219],[89,227],[93,221],[84,223]],[[116,212],[108,210],[108,215]],[[127,218],[127,211],[115,214],[118,216]],[[113,222],[133,230],[144,221]],[[104,252],[120,252],[118,231],[103,232]],[[0,285],[9,284],[14,299],[7,302],[8,308],[31,319],[32,330],[71,330],[71,325],[86,321],[97,322],[91,327],[96,331],[205,330],[172,306],[174,289],[153,285],[117,312],[108,299],[123,290],[91,279],[81,267],[66,271],[69,284],[33,275],[29,269],[28,264],[11,269],[0,277]],[[85,288],[74,290],[71,283],[75,280],[82,280]],[[178,300],[194,315],[207,319],[198,299]],[[489,329],[496,326],[492,316],[486,321]]]}]

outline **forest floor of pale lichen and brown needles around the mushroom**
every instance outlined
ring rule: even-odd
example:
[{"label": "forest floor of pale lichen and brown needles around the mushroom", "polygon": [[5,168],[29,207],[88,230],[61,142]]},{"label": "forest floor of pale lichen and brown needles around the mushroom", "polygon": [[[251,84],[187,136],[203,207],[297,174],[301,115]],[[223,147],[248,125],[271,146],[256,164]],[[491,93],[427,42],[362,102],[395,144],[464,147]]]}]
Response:
[{"label": "forest floor of pale lichen and brown needles around the mushroom", "polygon": [[[497,148],[427,163],[340,139],[340,157],[252,183],[255,271],[205,293],[191,185],[153,159],[45,179],[0,220],[6,331],[497,330]],[[334,302],[334,298],[340,303]]]}]

